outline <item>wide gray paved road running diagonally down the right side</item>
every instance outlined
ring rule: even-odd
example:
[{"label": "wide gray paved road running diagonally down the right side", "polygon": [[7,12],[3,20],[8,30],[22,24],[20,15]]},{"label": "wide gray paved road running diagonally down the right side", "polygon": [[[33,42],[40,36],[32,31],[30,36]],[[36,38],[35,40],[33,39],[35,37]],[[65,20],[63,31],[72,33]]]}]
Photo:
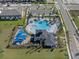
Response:
[{"label": "wide gray paved road running diagonally down the right side", "polygon": [[69,32],[69,37],[71,39],[69,47],[70,47],[70,52],[71,52],[72,59],[79,59],[79,56],[75,56],[76,53],[79,52],[78,48],[76,46],[76,40],[74,39],[74,34],[75,34],[75,36],[77,36],[77,34],[75,32],[75,27],[73,26],[73,24],[71,22],[71,19],[68,16],[68,13],[67,13],[66,9],[64,9],[64,7],[63,7],[64,4],[62,3],[62,1],[61,0],[56,0],[56,2],[59,5],[60,12],[62,14],[62,17],[64,19],[66,28]]}]

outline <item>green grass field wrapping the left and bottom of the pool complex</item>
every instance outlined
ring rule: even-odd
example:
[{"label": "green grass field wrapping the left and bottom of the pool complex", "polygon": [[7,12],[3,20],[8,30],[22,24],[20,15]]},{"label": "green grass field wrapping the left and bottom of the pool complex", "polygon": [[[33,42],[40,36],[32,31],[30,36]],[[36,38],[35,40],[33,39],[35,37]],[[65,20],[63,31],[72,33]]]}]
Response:
[{"label": "green grass field wrapping the left and bottom of the pool complex", "polygon": [[4,51],[0,53],[0,59],[68,59],[66,47],[54,49],[53,52],[42,49],[39,53],[32,54],[26,54],[29,49],[6,49],[11,30],[18,24],[23,23],[22,21],[0,21],[0,48]]}]

